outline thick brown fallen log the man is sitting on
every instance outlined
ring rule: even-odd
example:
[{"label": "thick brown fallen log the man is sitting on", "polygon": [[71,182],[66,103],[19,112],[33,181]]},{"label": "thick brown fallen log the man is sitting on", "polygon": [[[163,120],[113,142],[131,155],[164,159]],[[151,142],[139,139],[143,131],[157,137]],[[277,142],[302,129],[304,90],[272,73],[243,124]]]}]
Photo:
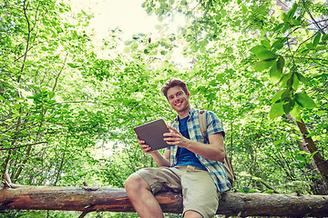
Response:
[{"label": "thick brown fallen log the man is sitting on", "polygon": [[[181,213],[180,193],[159,193],[164,213]],[[0,210],[134,212],[124,189],[108,187],[0,186]],[[224,193],[218,214],[228,216],[328,216],[328,195]]]}]

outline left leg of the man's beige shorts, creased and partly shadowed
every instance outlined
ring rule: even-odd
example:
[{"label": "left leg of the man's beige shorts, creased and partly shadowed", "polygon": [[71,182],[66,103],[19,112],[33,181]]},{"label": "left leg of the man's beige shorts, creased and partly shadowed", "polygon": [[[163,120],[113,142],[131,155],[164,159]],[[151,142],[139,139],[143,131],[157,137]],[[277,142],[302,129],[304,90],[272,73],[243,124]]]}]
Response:
[{"label": "left leg of the man's beige shorts, creased and partly shadowed", "polygon": [[144,168],[138,173],[150,186],[152,193],[181,191],[180,172],[171,167]]}]

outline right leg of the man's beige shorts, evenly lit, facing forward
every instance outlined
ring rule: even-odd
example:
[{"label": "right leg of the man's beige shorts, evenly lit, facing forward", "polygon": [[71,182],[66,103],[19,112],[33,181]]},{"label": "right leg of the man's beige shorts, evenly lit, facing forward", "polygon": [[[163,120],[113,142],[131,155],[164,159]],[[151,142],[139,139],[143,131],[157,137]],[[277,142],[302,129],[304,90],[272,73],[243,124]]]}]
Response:
[{"label": "right leg of the man's beige shorts, evenly lit, facing forward", "polygon": [[220,192],[207,171],[189,166],[181,176],[183,212],[196,211],[212,217],[218,210]]}]

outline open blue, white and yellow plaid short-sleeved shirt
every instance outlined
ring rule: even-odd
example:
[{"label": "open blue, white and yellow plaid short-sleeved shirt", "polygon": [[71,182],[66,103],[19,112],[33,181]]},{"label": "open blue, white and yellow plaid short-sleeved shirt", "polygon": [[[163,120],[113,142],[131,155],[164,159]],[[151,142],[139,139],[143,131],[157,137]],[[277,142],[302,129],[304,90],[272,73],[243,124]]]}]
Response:
[{"label": "open blue, white and yellow plaid short-sleeved shirt", "polygon": [[[187,121],[188,131],[190,134],[190,140],[197,141],[203,144],[209,144],[208,139],[204,138],[200,133],[200,121],[199,121],[199,110],[195,110],[194,108],[190,109],[189,115],[190,118]],[[216,134],[221,133],[223,131],[223,126],[220,123],[218,116],[210,111],[206,113],[207,120],[207,134]],[[179,130],[179,120],[178,116],[175,118],[172,127]],[[177,151],[178,146],[171,146],[170,149],[170,157],[169,163],[170,166],[174,166],[177,163]],[[213,182],[218,187],[220,192],[225,192],[231,189],[231,183],[229,182],[228,175],[225,172],[225,168],[223,163],[206,159],[199,154],[196,154],[197,158],[200,160],[200,163],[206,167],[208,172],[210,173],[210,177]]]}]

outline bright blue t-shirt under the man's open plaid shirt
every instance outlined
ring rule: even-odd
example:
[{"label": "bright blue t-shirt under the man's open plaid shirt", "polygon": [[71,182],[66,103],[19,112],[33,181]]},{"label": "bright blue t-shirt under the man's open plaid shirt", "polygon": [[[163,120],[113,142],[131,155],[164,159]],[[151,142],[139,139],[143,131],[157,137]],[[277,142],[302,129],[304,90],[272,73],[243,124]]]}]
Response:
[{"label": "bright blue t-shirt under the man's open plaid shirt", "polygon": [[[184,137],[190,139],[188,133],[187,121],[190,116],[179,119],[179,133]],[[187,148],[179,147],[177,152],[178,163],[176,165],[192,165],[199,167],[206,171],[206,168],[200,163],[200,160],[196,157],[193,152],[190,152]]]}]

